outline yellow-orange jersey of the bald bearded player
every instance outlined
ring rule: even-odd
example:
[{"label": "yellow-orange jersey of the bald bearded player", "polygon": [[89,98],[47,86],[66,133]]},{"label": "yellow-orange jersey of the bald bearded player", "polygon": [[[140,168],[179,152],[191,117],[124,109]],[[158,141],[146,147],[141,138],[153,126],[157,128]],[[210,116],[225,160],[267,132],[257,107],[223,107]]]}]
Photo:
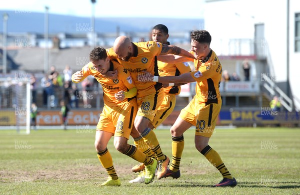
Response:
[{"label": "yellow-orange jersey of the bald bearded player", "polygon": [[148,71],[153,75],[158,76],[158,66],[156,56],[160,54],[162,45],[159,42],[148,41],[133,43],[135,51],[133,56],[128,61],[122,61],[117,58],[113,48],[107,49],[109,59],[117,60],[128,72],[137,88],[137,97],[143,97],[147,94],[155,93],[162,87],[161,83],[142,82],[138,81],[137,76],[143,74],[143,71]]}]

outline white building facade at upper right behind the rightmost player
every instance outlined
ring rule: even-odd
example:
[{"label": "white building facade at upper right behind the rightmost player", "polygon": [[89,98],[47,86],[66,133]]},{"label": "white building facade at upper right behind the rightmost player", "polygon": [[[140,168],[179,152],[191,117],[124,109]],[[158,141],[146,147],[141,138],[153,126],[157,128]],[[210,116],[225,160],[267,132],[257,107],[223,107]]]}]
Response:
[{"label": "white building facade at upper right behind the rightmost player", "polygon": [[203,29],[219,56],[262,54],[273,81],[289,80],[287,94],[300,107],[300,0],[205,0]]}]

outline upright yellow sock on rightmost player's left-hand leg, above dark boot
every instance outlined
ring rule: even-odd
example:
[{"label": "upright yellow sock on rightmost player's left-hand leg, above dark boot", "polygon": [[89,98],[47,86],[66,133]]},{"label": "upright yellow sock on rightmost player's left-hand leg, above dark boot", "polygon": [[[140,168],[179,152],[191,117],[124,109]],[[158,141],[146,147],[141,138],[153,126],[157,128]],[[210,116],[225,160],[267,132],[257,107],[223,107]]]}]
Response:
[{"label": "upright yellow sock on rightmost player's left-hand leg, above dark boot", "polygon": [[179,137],[172,136],[172,162],[169,169],[173,172],[177,172],[179,170],[183,148],[184,148],[183,135]]}]

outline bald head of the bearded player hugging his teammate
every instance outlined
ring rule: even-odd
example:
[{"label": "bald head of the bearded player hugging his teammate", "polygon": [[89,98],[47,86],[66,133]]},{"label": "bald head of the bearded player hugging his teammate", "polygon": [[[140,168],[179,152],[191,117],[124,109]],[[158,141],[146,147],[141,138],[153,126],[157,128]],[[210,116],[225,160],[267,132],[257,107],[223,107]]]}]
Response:
[{"label": "bald head of the bearded player hugging his teammate", "polygon": [[123,61],[128,61],[131,57],[131,41],[126,36],[119,36],[114,40],[113,51]]}]

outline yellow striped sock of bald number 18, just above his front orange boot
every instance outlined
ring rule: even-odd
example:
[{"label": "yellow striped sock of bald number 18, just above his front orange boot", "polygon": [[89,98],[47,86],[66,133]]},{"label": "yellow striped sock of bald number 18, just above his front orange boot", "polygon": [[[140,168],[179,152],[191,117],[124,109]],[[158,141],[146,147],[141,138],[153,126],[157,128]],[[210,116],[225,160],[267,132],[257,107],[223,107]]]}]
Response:
[{"label": "yellow striped sock of bald number 18, just above his front orange boot", "polygon": [[156,135],[150,128],[146,128],[140,136],[143,138],[145,144],[150,148],[150,150],[155,153],[157,161],[165,160],[165,156],[160,149]]}]

